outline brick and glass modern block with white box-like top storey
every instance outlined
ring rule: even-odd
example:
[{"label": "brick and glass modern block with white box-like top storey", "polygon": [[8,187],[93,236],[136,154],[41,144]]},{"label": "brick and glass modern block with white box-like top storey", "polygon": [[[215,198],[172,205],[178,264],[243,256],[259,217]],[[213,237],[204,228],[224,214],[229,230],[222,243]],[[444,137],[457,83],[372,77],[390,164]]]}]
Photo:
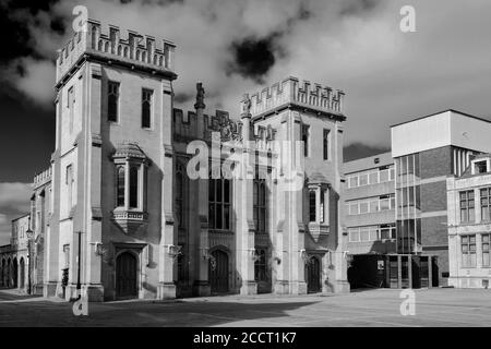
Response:
[{"label": "brick and glass modern block with white box-like top storey", "polygon": [[490,134],[490,121],[456,110],[391,127],[397,252],[436,255],[442,286],[450,274],[446,178],[491,152]]}]

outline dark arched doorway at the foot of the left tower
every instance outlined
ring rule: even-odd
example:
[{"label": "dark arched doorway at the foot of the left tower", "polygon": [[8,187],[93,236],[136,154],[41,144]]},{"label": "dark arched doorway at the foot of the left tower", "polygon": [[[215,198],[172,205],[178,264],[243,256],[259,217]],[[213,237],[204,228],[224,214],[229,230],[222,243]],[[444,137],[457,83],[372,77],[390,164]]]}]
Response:
[{"label": "dark arched doorway at the foot of the left tower", "polygon": [[131,252],[122,252],[116,258],[116,297],[137,297],[137,260]]}]

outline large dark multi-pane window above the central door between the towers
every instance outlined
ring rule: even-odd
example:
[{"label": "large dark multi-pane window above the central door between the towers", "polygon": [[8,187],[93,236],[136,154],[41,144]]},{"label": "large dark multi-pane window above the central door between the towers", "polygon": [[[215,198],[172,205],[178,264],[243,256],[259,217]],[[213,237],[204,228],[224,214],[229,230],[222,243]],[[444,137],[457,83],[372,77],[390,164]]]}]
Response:
[{"label": "large dark multi-pane window above the central door between the towers", "polygon": [[208,226],[230,229],[230,181],[209,179],[208,185]]}]

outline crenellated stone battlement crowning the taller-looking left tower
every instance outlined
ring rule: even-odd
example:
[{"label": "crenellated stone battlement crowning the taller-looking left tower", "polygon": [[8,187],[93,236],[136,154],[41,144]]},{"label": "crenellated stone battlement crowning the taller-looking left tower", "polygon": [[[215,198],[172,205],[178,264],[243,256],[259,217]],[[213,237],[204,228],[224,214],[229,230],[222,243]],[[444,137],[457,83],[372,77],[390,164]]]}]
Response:
[{"label": "crenellated stone battlement crowning the taller-looking left tower", "polygon": [[158,45],[153,36],[143,36],[128,31],[128,37],[122,38],[117,26],[109,25],[108,32],[103,32],[98,21],[88,20],[86,32],[77,32],[69,43],[58,51],[57,85],[70,71],[76,68],[79,61],[87,56],[97,57],[109,63],[128,64],[131,69],[139,67],[153,73],[167,73],[175,77],[173,55],[176,45],[163,39]]}]

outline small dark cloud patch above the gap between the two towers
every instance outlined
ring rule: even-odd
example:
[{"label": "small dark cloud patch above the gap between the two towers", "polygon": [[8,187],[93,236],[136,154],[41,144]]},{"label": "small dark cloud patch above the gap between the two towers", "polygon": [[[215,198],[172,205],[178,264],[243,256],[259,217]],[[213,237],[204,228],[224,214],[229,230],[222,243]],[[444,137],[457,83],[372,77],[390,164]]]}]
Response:
[{"label": "small dark cloud patch above the gap between the two towers", "polygon": [[231,44],[235,61],[229,64],[229,73],[238,73],[256,82],[262,82],[276,62],[277,56],[284,56],[275,40],[279,34],[272,34],[265,38],[247,37]]}]

